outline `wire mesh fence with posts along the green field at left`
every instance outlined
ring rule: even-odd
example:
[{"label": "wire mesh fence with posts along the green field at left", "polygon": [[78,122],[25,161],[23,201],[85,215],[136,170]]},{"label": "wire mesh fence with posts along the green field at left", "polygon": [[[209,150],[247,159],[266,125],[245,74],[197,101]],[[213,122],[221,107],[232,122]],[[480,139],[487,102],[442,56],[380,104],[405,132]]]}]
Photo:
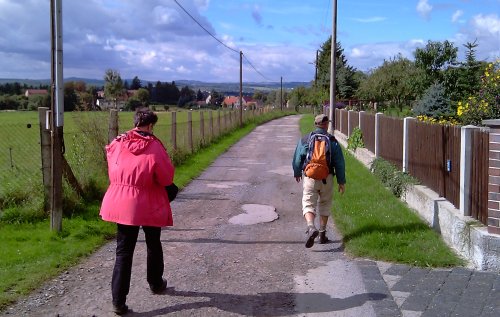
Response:
[{"label": "wire mesh fence with posts along the green field at left", "polygon": [[[243,111],[243,123],[271,111],[274,111],[271,107]],[[132,112],[118,113],[117,133],[133,127],[133,115]],[[240,124],[237,109],[158,112],[158,116],[154,133],[166,146],[174,164],[182,162],[186,155],[208,146]],[[65,114],[64,161],[83,189],[96,187],[96,184],[106,185],[108,182],[105,146],[110,138],[111,117],[109,112]],[[42,146],[47,146],[47,142],[42,142],[41,136],[45,134],[50,138],[50,133],[45,126],[42,113],[1,114],[0,212],[20,205],[29,205],[33,209],[43,206],[43,210],[48,210],[47,195],[50,189],[47,188],[47,175],[50,175],[50,161],[46,162],[45,159],[43,162]],[[45,133],[42,133],[44,130]],[[50,151],[50,142],[48,147],[46,151]],[[63,185],[65,193],[72,189],[74,192],[71,182],[66,181]]]}]

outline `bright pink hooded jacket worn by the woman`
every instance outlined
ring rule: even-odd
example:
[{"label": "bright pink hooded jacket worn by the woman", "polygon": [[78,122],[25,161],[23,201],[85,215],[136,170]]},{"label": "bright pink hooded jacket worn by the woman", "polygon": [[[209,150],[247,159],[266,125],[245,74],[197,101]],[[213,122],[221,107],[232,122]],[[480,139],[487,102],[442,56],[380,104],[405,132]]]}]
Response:
[{"label": "bright pink hooded jacket worn by the woman", "polygon": [[106,155],[110,185],[101,205],[102,219],[123,225],[172,226],[165,186],[172,184],[174,166],[160,140],[133,129],[107,145]]}]

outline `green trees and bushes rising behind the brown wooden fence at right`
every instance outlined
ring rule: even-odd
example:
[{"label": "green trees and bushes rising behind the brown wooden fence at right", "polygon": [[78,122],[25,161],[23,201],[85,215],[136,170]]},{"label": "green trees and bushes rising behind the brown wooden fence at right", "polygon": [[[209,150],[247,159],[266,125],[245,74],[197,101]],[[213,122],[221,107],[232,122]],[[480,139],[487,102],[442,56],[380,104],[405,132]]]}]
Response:
[{"label": "green trees and bushes rising behind the brown wooden fence at right", "polygon": [[[354,110],[386,112],[445,124],[481,125],[500,117],[500,59],[476,58],[478,43],[464,44],[465,60],[449,41],[428,41],[417,48],[414,60],[401,54],[369,72],[350,66],[342,46],[336,51],[335,107],[352,102]],[[311,87],[298,87],[289,96],[294,107],[328,103],[330,95],[331,36],[316,61],[317,76]],[[375,105],[378,105],[375,108]]]}]

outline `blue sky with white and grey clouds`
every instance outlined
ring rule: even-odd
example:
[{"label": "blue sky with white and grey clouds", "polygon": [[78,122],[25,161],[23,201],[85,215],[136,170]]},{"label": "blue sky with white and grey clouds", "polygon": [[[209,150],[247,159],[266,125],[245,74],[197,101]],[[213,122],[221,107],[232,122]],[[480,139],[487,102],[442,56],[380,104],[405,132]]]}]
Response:
[{"label": "blue sky with white and grey clouds", "polygon": [[[63,74],[143,81],[309,82],[333,0],[64,0]],[[184,8],[184,9],[182,9]],[[185,11],[184,11],[185,10]],[[187,11],[187,13],[186,13]],[[500,58],[500,0],[337,0],[337,40],[362,71],[431,41]],[[50,78],[50,1],[0,0],[0,78]]]}]

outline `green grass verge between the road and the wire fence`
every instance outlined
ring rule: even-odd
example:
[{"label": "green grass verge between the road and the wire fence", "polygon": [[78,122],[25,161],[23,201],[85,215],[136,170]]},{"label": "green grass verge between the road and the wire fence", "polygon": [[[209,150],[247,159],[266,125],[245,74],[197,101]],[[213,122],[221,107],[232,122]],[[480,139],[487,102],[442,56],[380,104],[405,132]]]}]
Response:
[{"label": "green grass verge between the road and the wire fence", "polygon": [[[291,113],[271,112],[250,119],[243,127],[188,156],[176,167],[175,183],[185,187],[256,126],[287,114]],[[99,207],[100,202],[96,201],[77,216],[64,218],[61,233],[50,231],[49,220],[21,224],[0,222],[0,311],[114,237],[116,227],[100,220]]]}]

